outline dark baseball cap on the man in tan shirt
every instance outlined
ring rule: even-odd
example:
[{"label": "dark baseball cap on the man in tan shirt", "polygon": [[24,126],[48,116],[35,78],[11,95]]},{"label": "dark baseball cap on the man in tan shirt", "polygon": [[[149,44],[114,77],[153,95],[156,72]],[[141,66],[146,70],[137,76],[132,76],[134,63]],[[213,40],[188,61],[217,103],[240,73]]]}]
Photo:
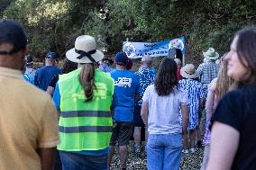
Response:
[{"label": "dark baseball cap on the man in tan shirt", "polygon": [[0,20],[0,43],[11,43],[14,49],[0,51],[0,54],[14,54],[26,47],[27,36],[20,23],[13,20]]}]

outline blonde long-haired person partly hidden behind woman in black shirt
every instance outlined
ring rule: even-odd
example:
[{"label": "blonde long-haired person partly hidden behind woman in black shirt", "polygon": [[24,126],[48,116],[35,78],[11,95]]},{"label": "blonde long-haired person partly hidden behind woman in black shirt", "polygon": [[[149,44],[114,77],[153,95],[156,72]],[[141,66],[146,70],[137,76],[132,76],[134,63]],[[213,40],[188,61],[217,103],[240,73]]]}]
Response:
[{"label": "blonde long-haired person partly hidden behind woman in black shirt", "polygon": [[[225,55],[224,55],[225,56]],[[218,73],[218,76],[208,85],[208,93],[206,98],[206,132],[204,136],[204,157],[201,166],[201,170],[205,170],[208,158],[209,158],[209,149],[210,149],[210,130],[209,125],[211,118],[215,112],[215,108],[219,100],[228,92],[231,85],[233,84],[233,78],[227,76],[227,61],[221,59],[221,68]]]}]

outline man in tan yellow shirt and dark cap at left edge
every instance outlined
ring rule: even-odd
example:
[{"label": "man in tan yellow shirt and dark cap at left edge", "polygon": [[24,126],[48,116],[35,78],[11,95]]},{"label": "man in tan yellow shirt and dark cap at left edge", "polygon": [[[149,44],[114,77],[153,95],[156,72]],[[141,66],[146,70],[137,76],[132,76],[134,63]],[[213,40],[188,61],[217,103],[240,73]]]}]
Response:
[{"label": "man in tan yellow shirt and dark cap at left edge", "polygon": [[0,169],[52,169],[59,143],[50,96],[23,79],[27,37],[18,22],[0,21]]}]

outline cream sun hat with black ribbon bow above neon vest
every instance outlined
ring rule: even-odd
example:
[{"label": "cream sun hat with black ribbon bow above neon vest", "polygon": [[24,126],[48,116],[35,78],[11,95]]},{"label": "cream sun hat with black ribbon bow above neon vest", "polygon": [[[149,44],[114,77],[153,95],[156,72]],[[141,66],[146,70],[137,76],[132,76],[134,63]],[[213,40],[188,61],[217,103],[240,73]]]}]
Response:
[{"label": "cream sun hat with black ribbon bow above neon vest", "polygon": [[75,63],[96,63],[104,58],[104,54],[96,49],[93,37],[82,35],[76,39],[75,48],[66,52],[66,57]]}]

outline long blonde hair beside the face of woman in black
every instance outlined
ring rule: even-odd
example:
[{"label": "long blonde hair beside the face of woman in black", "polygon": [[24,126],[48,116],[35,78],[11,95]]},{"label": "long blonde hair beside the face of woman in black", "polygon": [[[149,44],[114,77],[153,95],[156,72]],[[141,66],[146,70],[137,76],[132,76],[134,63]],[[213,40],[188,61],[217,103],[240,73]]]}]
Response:
[{"label": "long blonde hair beside the face of woman in black", "polygon": [[233,85],[233,78],[227,76],[227,60],[223,60],[220,71],[217,76],[215,94],[217,101],[219,101],[224,94],[226,94]]}]

